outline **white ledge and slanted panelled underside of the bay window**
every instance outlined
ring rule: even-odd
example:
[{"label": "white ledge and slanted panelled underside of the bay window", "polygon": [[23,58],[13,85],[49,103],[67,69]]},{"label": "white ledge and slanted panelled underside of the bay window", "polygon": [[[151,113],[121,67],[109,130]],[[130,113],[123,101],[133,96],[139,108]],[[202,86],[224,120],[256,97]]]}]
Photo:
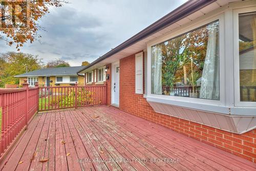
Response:
[{"label": "white ledge and slanted panelled underside of the bay window", "polygon": [[148,96],[147,102],[157,113],[215,127],[235,134],[243,134],[256,127],[256,108],[189,103]]}]

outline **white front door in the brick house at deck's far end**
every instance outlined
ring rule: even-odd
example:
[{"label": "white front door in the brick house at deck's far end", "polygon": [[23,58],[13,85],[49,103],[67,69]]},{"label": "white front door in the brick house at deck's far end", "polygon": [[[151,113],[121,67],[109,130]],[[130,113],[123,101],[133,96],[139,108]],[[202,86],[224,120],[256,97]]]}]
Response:
[{"label": "white front door in the brick house at deck's far end", "polygon": [[112,104],[119,106],[119,62],[112,65]]}]

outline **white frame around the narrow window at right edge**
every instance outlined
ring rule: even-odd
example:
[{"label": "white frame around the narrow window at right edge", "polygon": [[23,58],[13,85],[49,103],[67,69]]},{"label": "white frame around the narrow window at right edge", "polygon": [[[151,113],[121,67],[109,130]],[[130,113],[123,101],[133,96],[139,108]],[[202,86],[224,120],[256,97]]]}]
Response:
[{"label": "white frame around the narrow window at right edge", "polygon": [[233,10],[233,54],[234,54],[234,105],[256,106],[256,102],[240,101],[240,71],[239,71],[239,14],[256,12],[256,7]]}]

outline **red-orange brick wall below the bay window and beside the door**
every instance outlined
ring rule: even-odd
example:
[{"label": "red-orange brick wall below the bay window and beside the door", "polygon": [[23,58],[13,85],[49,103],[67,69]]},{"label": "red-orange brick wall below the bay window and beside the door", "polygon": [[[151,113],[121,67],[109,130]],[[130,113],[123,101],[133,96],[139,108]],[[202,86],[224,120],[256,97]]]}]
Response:
[{"label": "red-orange brick wall below the bay window and beside the door", "polygon": [[[111,88],[108,89],[110,94]],[[135,54],[120,60],[119,106],[122,111],[256,163],[256,130],[238,135],[154,112],[143,95],[135,94]]]}]

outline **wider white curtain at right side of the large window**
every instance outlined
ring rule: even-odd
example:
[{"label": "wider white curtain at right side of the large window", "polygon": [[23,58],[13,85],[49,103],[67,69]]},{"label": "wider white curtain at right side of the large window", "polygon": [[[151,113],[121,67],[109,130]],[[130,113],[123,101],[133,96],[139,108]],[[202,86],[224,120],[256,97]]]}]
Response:
[{"label": "wider white curtain at right side of the large window", "polygon": [[207,26],[208,43],[202,74],[200,98],[220,100],[220,64],[218,25]]}]

